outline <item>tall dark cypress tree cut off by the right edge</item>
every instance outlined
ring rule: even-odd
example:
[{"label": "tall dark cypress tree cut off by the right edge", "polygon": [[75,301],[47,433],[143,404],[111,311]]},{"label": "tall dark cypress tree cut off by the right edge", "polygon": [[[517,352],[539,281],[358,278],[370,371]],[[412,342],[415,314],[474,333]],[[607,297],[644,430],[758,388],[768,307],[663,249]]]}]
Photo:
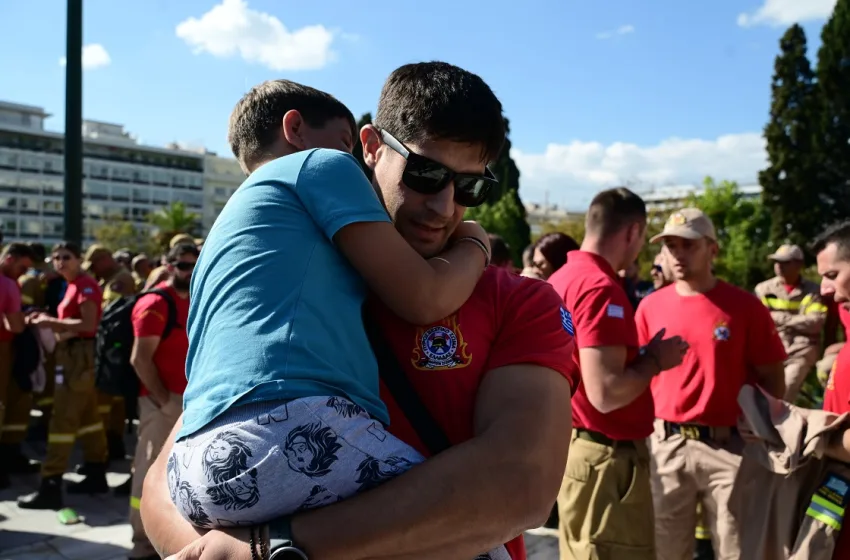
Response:
[{"label": "tall dark cypress tree cut off by the right edge", "polygon": [[850,217],[850,0],[838,0],[821,33],[818,89],[823,106],[819,148],[831,218]]}]

